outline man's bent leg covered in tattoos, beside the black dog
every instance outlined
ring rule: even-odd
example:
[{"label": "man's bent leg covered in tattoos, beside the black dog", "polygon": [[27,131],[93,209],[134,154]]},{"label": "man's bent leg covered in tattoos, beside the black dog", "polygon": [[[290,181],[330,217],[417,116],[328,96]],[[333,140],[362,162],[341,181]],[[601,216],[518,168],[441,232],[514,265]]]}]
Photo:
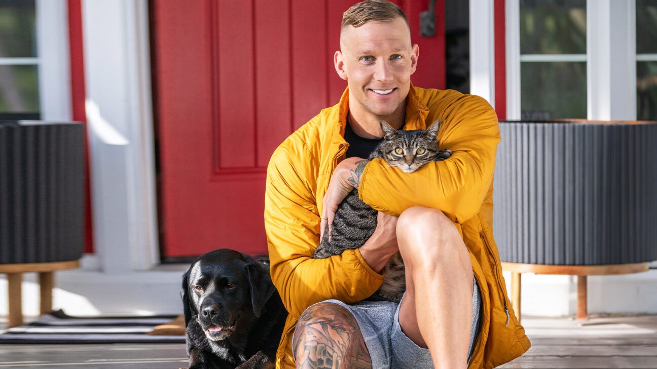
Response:
[{"label": "man's bent leg covered in tattoos, beside the black dog", "polygon": [[297,368],[371,369],[372,360],[353,315],[334,303],[302,313],[292,337]]}]

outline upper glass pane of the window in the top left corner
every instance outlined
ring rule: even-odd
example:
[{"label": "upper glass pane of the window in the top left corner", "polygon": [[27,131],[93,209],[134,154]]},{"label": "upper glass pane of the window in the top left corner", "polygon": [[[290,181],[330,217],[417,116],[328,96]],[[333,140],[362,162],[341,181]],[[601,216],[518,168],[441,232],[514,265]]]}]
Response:
[{"label": "upper glass pane of the window in the top left corner", "polygon": [[0,58],[37,56],[34,0],[0,0]]}]

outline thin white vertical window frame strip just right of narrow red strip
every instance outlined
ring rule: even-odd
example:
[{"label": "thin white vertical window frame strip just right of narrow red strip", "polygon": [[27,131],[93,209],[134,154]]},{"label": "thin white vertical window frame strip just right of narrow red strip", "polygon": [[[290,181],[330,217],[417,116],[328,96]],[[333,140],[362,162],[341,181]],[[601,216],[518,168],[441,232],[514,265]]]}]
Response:
[{"label": "thin white vertical window frame strip just right of narrow red strip", "polygon": [[520,3],[505,2],[507,119],[520,119]]}]

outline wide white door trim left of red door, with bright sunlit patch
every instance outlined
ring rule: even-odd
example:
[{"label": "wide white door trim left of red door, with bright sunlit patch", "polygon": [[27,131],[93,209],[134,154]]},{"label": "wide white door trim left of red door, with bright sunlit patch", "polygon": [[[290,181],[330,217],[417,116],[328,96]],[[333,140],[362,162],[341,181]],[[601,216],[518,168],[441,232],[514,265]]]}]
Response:
[{"label": "wide white door trim left of red door, with bright sunlit patch", "polygon": [[150,269],[159,253],[148,3],[82,5],[95,251],[104,272]]}]

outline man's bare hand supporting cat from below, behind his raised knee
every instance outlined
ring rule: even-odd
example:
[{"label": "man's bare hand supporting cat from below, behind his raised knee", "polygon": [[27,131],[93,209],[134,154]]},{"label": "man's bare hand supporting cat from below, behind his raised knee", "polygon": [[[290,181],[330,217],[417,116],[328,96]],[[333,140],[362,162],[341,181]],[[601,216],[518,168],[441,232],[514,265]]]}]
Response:
[{"label": "man's bare hand supporting cat from below, behind his raised knee", "polygon": [[360,247],[363,259],[377,273],[380,273],[388,264],[390,257],[399,251],[399,246],[397,246],[398,218],[379,211],[376,215],[374,233]]}]

